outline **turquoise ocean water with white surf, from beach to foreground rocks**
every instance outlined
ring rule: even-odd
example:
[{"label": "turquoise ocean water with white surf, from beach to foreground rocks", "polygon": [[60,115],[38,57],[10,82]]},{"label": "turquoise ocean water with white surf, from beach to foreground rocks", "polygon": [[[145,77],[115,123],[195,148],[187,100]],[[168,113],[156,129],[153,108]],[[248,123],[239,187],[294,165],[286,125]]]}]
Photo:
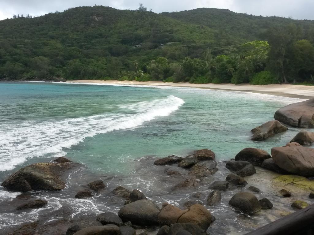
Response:
[{"label": "turquoise ocean water with white surf, from beach to foreground rocks", "polygon": [[[154,160],[209,148],[222,169],[215,177],[225,177],[222,161],[234,158],[241,149],[270,152],[295,136],[300,129],[290,128],[265,142],[253,142],[250,130],[272,120],[278,108],[300,101],[197,88],[1,82],[0,183],[19,168],[59,156],[82,167],[68,177],[65,190],[33,192],[48,201],[45,208],[16,213],[9,206],[0,206],[0,230],[39,219],[46,223],[117,211],[123,203],[112,199],[109,192],[119,185],[138,188],[156,203],[180,205],[191,200],[193,191],[171,193],[169,187],[179,179],[169,182],[165,167],[152,165]],[[107,190],[92,199],[74,199],[75,192],[99,178],[106,182]],[[7,204],[16,195],[0,187],[0,203]],[[226,204],[223,201],[212,208],[221,220],[217,218],[216,228],[209,232],[250,231],[251,227],[223,215],[232,210]],[[257,221],[269,222],[265,215]],[[222,224],[229,226],[225,233],[218,229]]]}]

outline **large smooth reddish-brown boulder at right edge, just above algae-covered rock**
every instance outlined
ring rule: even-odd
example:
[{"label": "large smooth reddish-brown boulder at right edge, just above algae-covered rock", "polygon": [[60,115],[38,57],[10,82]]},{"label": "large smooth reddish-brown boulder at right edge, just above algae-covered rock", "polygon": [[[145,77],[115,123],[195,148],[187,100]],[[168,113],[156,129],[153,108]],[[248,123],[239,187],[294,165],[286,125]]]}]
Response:
[{"label": "large smooth reddish-brown boulder at right edge, just above algae-covered rock", "polygon": [[276,147],[271,150],[273,161],[291,174],[314,176],[314,149],[306,147]]}]

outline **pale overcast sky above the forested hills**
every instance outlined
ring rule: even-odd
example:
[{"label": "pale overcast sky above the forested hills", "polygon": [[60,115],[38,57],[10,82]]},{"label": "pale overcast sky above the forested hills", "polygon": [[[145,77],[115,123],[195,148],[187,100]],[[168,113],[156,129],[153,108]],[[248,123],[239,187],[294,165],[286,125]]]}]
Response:
[{"label": "pale overcast sky above the forested hills", "polygon": [[283,16],[314,20],[314,0],[0,0],[0,20],[13,14],[44,15],[78,6],[103,5],[117,9],[137,9],[139,2],[154,12],[171,12],[195,8],[225,8],[237,13]]}]

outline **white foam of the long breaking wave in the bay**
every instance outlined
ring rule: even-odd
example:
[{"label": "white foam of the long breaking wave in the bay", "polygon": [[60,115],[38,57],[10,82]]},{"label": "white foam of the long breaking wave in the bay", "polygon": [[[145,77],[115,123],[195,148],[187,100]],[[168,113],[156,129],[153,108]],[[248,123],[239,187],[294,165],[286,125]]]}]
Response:
[{"label": "white foam of the long breaking wave in the bay", "polygon": [[168,96],[121,107],[136,111],[135,114],[108,113],[54,122],[0,124],[0,171],[12,170],[28,159],[43,157],[45,154],[64,155],[64,148],[70,148],[87,137],[113,130],[136,128],[156,117],[170,115],[183,103],[178,97]]}]

